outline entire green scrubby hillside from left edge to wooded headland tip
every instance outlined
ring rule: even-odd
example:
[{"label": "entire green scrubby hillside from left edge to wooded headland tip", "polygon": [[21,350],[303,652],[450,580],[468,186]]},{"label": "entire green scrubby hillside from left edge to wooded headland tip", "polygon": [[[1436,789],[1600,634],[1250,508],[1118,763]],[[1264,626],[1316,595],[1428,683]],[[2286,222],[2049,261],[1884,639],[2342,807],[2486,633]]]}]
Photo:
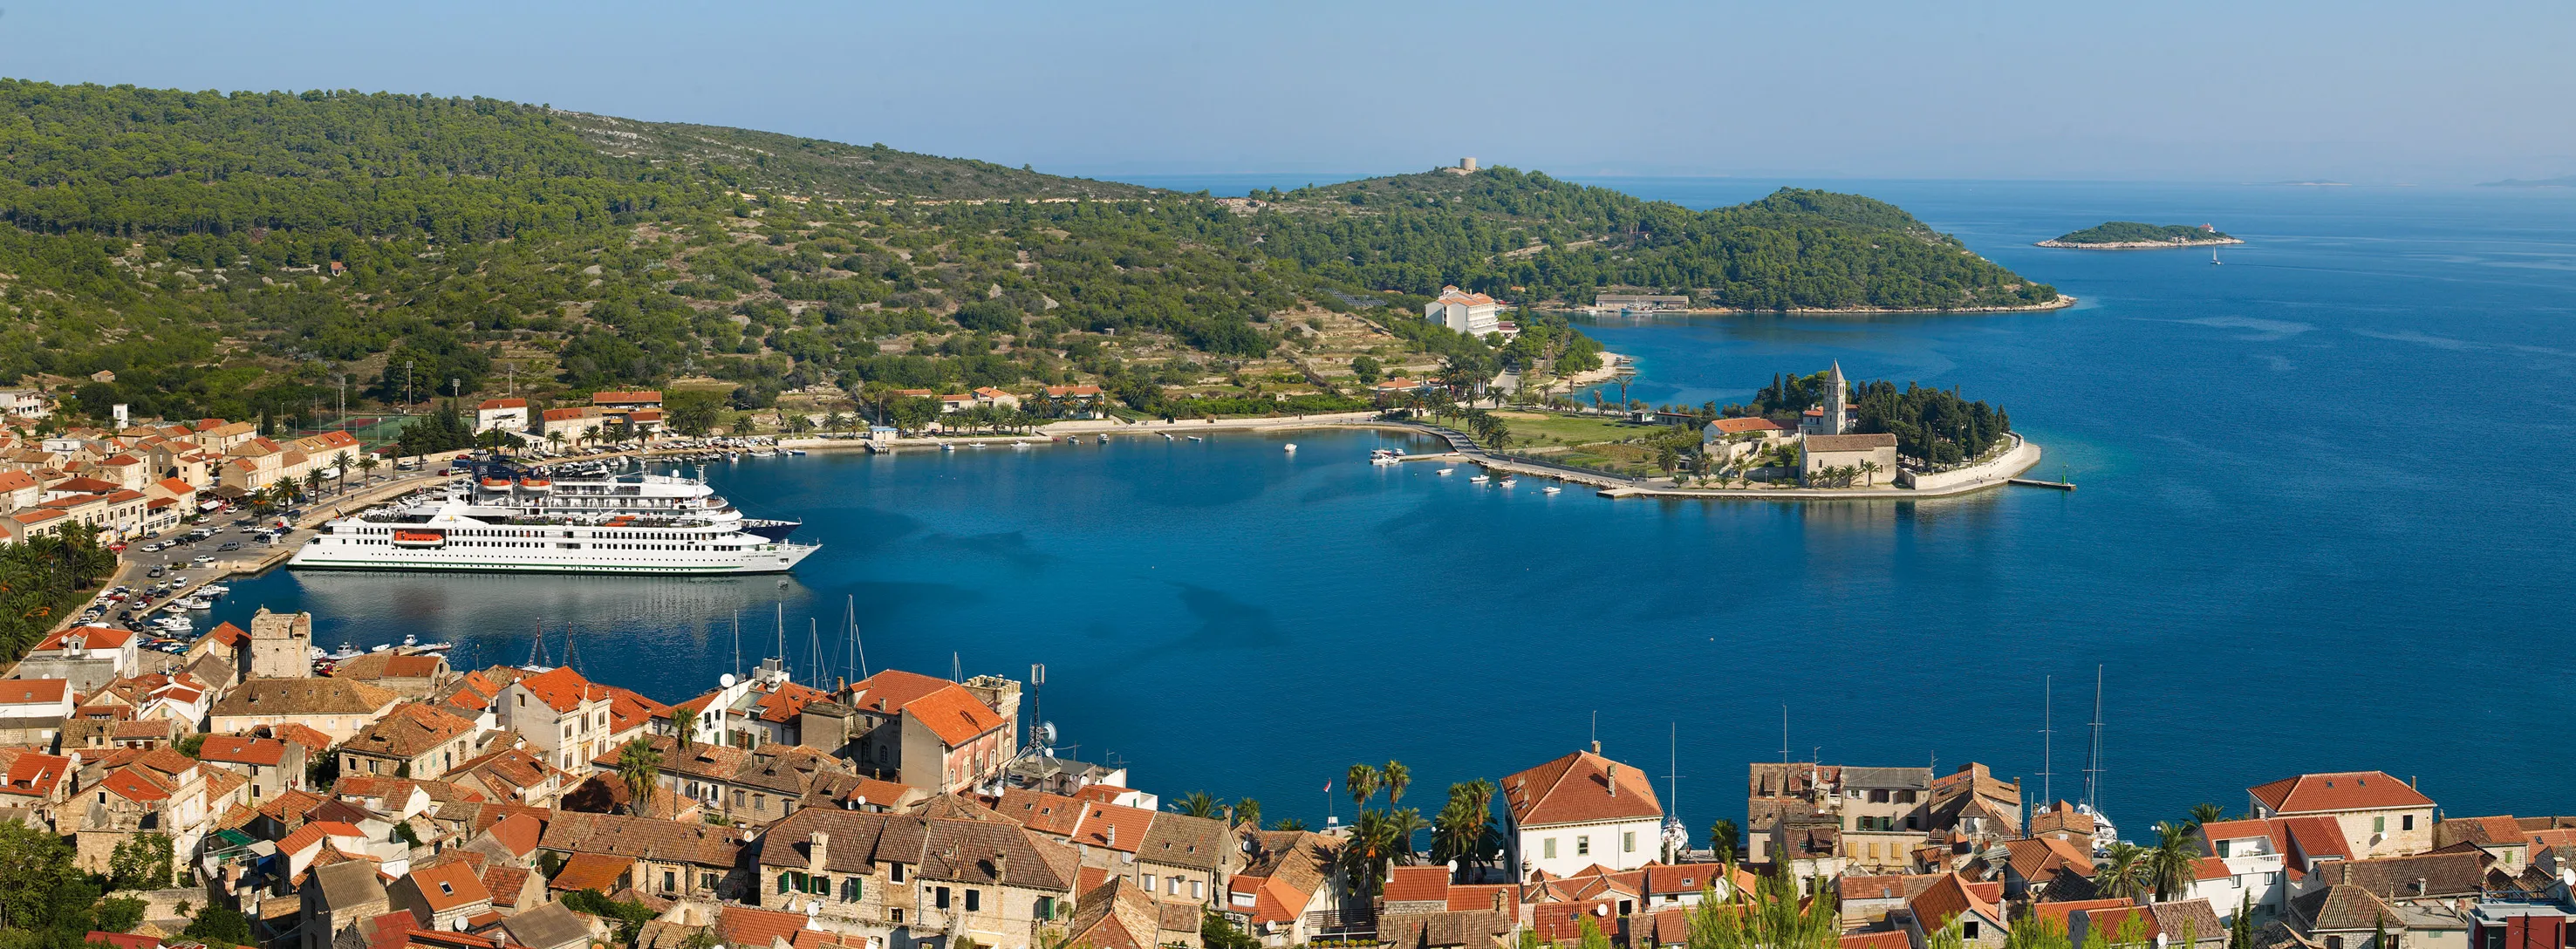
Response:
[{"label": "entire green scrubby hillside from left edge to wooded headland tip", "polygon": [[1492,170],[1257,204],[489,98],[0,80],[0,384],[77,389],[72,418],[278,423],[312,423],[343,379],[353,410],[672,387],[822,413],[981,384],[1324,410],[1358,405],[1360,364],[1592,358],[1543,315],[1510,346],[1430,328],[1440,284],[1535,304],[2053,297],[1816,191],[1695,214]]}]

